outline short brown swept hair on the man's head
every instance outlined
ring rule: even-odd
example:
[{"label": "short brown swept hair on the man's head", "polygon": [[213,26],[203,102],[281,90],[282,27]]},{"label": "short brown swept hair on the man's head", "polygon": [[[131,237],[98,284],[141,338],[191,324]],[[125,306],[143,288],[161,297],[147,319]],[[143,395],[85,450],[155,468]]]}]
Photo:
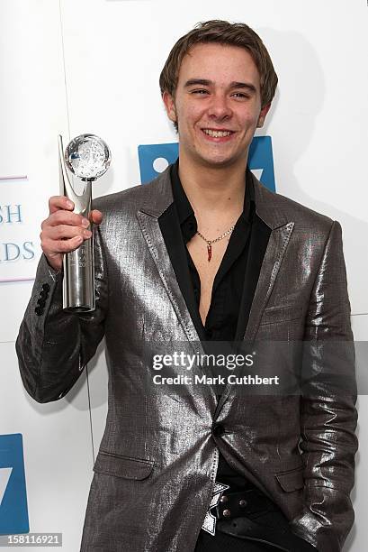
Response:
[{"label": "short brown swept hair on the man's head", "polygon": [[278,79],[265,44],[246,23],[229,23],[220,19],[197,23],[192,31],[184,34],[175,43],[161,71],[159,79],[161,94],[168,92],[171,96],[175,96],[179,69],[185,54],[194,44],[203,42],[218,42],[245,48],[252,56],[259,72],[262,107],[272,101]]}]

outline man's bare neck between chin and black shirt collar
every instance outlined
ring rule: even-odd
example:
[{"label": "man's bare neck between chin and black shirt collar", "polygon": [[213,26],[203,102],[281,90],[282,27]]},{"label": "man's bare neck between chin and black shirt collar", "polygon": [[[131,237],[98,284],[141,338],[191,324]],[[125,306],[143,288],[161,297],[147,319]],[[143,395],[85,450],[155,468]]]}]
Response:
[{"label": "man's bare neck between chin and black shirt collar", "polygon": [[237,166],[196,166],[179,157],[179,178],[194,213],[224,216],[241,213],[244,204],[247,159]]}]

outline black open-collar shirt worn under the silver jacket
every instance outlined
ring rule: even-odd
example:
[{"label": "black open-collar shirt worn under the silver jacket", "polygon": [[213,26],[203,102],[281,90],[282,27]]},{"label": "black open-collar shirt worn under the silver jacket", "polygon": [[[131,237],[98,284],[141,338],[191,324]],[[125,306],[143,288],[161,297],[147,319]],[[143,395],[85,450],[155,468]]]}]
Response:
[{"label": "black open-collar shirt worn under the silver jacket", "polygon": [[[197,231],[197,221],[180,182],[178,169],[179,161],[176,161],[170,169],[174,201],[158,219],[176,280],[201,341],[240,341],[246,331],[271,232],[256,215],[252,173],[247,168],[243,212],[230,235],[213,281],[211,306],[203,327],[199,314],[201,281],[186,248]],[[204,242],[203,254],[207,254]]]}]

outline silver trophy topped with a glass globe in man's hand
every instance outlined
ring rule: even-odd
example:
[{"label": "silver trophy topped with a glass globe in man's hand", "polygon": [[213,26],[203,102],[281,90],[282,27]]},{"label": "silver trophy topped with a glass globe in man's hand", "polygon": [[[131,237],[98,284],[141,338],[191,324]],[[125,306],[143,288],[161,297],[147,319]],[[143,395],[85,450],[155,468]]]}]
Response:
[{"label": "silver trophy topped with a glass globe in man's hand", "polygon": [[[58,136],[60,194],[75,205],[74,212],[90,220],[92,182],[109,168],[111,152],[98,136],[81,134],[63,151],[63,139]],[[85,182],[82,195],[77,195],[67,175],[67,169]],[[89,230],[93,232],[90,221]],[[75,251],[64,255],[63,308],[70,312],[90,312],[94,300],[94,237],[85,240]]]}]

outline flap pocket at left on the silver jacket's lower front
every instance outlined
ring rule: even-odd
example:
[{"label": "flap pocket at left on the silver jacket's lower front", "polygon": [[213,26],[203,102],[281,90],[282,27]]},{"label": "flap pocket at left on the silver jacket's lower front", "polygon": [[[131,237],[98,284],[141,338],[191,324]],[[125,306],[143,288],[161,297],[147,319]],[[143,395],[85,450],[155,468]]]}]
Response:
[{"label": "flap pocket at left on the silver jacket's lower front", "polygon": [[154,464],[151,460],[114,455],[100,450],[94,463],[94,472],[124,479],[142,480],[152,472]]}]

